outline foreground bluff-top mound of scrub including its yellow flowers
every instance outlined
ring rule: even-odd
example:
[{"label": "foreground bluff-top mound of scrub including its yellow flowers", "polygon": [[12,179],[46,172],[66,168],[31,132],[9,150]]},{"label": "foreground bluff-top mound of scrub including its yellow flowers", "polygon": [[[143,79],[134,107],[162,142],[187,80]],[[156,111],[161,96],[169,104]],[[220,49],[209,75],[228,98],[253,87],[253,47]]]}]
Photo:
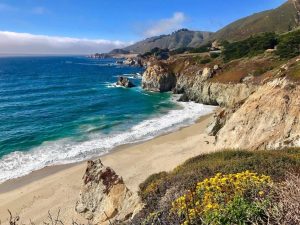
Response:
[{"label": "foreground bluff-top mound of scrub including its yellow flowers", "polygon": [[[150,176],[140,185],[139,194],[145,208],[134,218],[133,224],[235,224],[234,221],[241,219],[245,220],[240,224],[251,224],[246,221],[250,217],[257,221],[269,219],[270,224],[295,224],[293,222],[300,219],[296,212],[298,201],[290,201],[289,205],[294,207],[290,223],[283,216],[290,207],[283,203],[285,197],[294,194],[291,199],[297,199],[300,194],[299,177],[294,176],[288,182],[296,189],[282,196],[282,190],[289,188],[279,184],[285,184],[288,172],[299,176],[300,149],[228,150],[197,156],[169,173]],[[227,204],[222,205],[222,199],[226,199]],[[179,208],[181,203],[185,205]],[[202,213],[196,215],[198,211]],[[225,215],[230,221],[223,221]]]}]

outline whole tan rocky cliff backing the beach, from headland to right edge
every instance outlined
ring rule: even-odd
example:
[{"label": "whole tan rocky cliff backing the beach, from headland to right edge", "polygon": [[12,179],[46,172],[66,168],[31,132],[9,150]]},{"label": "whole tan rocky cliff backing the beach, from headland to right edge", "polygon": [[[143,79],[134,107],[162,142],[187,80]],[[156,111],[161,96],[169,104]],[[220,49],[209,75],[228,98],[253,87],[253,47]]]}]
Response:
[{"label": "whole tan rocky cliff backing the beach, from headland to right edge", "polygon": [[[282,62],[280,65],[275,63],[276,68],[272,65],[261,75],[253,76],[255,71],[251,70],[240,76],[235,70],[246,71],[252,66],[248,61],[242,69],[241,63],[235,63],[238,66],[229,73],[217,65],[201,67],[185,62],[180,71],[175,71],[172,64],[178,67],[179,62],[152,63],[143,76],[143,88],[173,91],[182,94],[183,101],[223,107],[216,112],[208,129],[216,137],[219,149],[299,147],[300,86],[297,71],[300,58],[284,65]],[[261,65],[258,64],[258,67]],[[227,76],[231,80],[222,82]],[[238,78],[235,82],[234,76]]]}]

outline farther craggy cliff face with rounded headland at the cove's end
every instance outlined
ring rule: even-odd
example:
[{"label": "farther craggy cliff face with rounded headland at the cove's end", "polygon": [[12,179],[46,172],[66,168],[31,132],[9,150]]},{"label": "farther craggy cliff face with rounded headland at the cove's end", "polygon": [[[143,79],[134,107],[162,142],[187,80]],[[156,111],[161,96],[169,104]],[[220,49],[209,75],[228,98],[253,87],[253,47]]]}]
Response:
[{"label": "farther craggy cliff face with rounded headland at the cove's end", "polygon": [[[199,68],[186,75],[185,69],[176,73],[167,63],[151,62],[143,74],[142,87],[148,91],[183,94],[180,100],[195,101],[209,105],[233,106],[245,100],[258,86],[251,83],[219,83],[210,79],[218,73],[218,65]],[[186,63],[186,70],[189,69]],[[189,71],[189,73],[191,73]]]}]

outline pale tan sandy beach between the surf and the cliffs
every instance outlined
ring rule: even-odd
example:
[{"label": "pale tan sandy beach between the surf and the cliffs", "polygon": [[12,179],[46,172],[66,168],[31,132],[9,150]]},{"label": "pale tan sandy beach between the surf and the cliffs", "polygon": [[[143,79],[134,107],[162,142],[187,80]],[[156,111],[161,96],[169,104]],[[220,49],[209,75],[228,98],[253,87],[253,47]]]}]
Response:
[{"label": "pale tan sandy beach between the surf and the cliffs", "polygon": [[[104,165],[121,175],[133,191],[149,175],[170,171],[185,160],[214,151],[214,137],[205,134],[211,115],[201,117],[196,124],[147,142],[122,146],[100,157]],[[0,220],[8,222],[9,209],[23,223],[40,224],[61,209],[61,219],[84,222],[75,212],[86,162],[47,167],[27,176],[0,185]]]}]

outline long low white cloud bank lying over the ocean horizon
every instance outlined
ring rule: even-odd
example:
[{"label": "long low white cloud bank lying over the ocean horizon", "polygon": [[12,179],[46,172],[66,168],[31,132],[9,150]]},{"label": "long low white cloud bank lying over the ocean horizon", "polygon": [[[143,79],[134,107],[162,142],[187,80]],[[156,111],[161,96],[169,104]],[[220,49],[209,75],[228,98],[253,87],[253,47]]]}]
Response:
[{"label": "long low white cloud bank lying over the ocean horizon", "polygon": [[0,31],[0,54],[90,54],[131,43]]}]

